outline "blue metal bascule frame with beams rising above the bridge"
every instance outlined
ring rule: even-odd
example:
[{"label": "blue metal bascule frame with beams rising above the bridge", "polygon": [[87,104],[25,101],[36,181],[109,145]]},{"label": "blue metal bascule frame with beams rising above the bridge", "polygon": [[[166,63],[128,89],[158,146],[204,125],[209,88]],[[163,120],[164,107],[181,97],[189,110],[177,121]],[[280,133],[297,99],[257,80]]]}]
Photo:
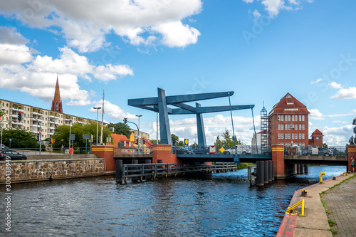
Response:
[{"label": "blue metal bascule frame with beams rising above the bridge", "polygon": [[[165,91],[157,88],[157,97],[130,99],[127,104],[135,107],[140,107],[145,110],[151,110],[159,113],[159,132],[161,144],[172,144],[171,132],[169,129],[168,115],[197,115],[197,135],[198,146],[206,146],[206,138],[204,132],[203,114],[208,112],[223,112],[229,110],[246,110],[252,109],[255,105],[232,105],[232,106],[209,106],[201,107],[196,102],[195,107],[185,104],[185,102],[194,102],[197,100],[210,100],[234,95],[233,91],[221,93],[201,93],[191,95],[171,95],[166,96]],[[167,105],[172,105],[177,108],[171,108]]]}]

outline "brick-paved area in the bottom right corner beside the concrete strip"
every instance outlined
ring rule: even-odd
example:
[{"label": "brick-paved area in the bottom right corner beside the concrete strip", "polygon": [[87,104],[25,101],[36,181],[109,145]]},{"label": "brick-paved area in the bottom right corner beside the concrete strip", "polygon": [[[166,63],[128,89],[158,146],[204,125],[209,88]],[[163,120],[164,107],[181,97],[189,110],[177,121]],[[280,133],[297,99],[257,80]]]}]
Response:
[{"label": "brick-paved area in the bottom right corner beside the concrete strip", "polygon": [[335,236],[356,236],[356,177],[328,190],[321,198],[330,213],[328,218],[336,223],[332,227],[337,231]]}]

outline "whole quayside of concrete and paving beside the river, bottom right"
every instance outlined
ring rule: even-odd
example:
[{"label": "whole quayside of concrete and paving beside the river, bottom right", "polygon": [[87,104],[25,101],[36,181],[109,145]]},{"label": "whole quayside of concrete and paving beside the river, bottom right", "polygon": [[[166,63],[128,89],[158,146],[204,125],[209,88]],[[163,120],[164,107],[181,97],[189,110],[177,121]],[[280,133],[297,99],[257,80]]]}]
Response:
[{"label": "whole quayside of concrete and paving beside the river, bottom right", "polygon": [[[281,226],[278,230],[277,236],[296,236],[296,237],[308,237],[308,236],[316,236],[316,237],[321,237],[321,236],[327,236],[327,237],[332,237],[333,234],[330,231],[330,226],[328,223],[328,216],[325,213],[325,209],[324,206],[320,200],[320,193],[322,193],[323,191],[328,191],[330,189],[330,187],[335,186],[335,184],[340,184],[340,182],[342,182],[343,180],[352,177],[352,174],[348,174],[347,176],[344,175],[340,175],[338,177],[336,177],[336,180],[333,179],[328,179],[325,180],[323,182],[323,184],[313,184],[311,186],[305,187],[304,190],[308,190],[308,196],[306,197],[302,197],[301,196],[301,191],[297,190],[295,191],[292,200],[290,201],[289,206],[293,206],[294,204],[296,204],[298,201],[300,201],[301,199],[304,199],[305,201],[305,216],[299,216],[299,214],[301,213],[301,205],[298,206],[297,208],[294,209],[293,214],[286,214],[283,218],[283,221],[281,223]],[[356,182],[356,178],[350,179],[350,181],[354,181]],[[347,182],[350,182],[347,181]],[[340,186],[337,187],[341,187],[344,186],[344,184],[347,184],[346,182],[340,184]],[[355,184],[355,183],[353,183]],[[352,186],[352,184],[350,184],[350,186]],[[342,188],[342,190],[345,193],[348,193],[348,189],[350,188],[350,186],[347,186],[346,188]],[[336,188],[336,187],[335,187]],[[333,189],[335,189],[333,188]],[[333,189],[330,189],[329,191],[333,191]],[[336,189],[335,189],[336,190]],[[355,188],[353,189],[353,194],[350,194],[351,196],[355,196],[356,195],[356,190]],[[328,193],[328,192],[327,192]],[[340,192],[338,192],[337,194],[339,194]],[[335,209],[340,209],[340,206],[342,206],[344,204],[344,201],[342,200],[342,196],[340,195],[333,195],[335,197],[335,199],[339,200],[340,203],[342,204],[335,204]],[[350,196],[348,197],[350,199]],[[323,195],[323,199],[325,198],[325,195]],[[350,201],[352,201],[352,199],[350,199]],[[328,203],[330,203],[331,201],[328,201]],[[354,203],[355,206],[355,203]],[[333,221],[335,221],[337,223],[337,218],[336,216],[340,216],[340,218],[342,218],[342,215],[346,214],[344,213],[344,211],[349,210],[350,207],[346,207],[342,208],[342,210],[340,209],[340,214],[335,215],[335,218],[333,219]],[[352,228],[354,228],[355,230],[355,208],[353,208],[353,212],[348,212],[349,216],[353,215],[352,219],[347,220],[347,223],[345,222],[345,219],[342,219],[340,221],[342,221],[342,223],[345,223],[345,226],[352,226]],[[330,207],[330,212],[331,211],[331,207]],[[341,222],[340,222],[341,223]],[[340,226],[342,226],[342,224],[340,224]],[[335,226],[333,227],[333,231],[337,231]],[[351,232],[349,232],[351,233]],[[355,231],[353,231],[353,233],[355,233]],[[344,235],[341,235],[344,236]],[[346,236],[346,235],[345,235]],[[351,236],[356,236],[356,234],[351,235]]]}]

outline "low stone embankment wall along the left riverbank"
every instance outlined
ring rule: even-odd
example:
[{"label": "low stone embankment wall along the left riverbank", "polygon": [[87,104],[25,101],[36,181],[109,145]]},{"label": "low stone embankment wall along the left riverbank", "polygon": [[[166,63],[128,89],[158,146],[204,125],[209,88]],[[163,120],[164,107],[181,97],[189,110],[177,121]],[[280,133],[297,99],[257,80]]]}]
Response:
[{"label": "low stone embankment wall along the left riverbank", "polygon": [[6,181],[6,163],[11,167],[11,183],[105,175],[104,159],[100,158],[1,161],[0,184]]}]

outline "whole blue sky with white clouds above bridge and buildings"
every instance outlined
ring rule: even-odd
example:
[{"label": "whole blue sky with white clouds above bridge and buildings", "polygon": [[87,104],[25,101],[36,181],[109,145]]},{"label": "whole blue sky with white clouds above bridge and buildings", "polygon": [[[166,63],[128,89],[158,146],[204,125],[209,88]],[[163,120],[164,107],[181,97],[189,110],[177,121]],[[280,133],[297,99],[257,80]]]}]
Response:
[{"label": "whole blue sky with white clouds above bridge and buildings", "polygon": [[[155,113],[128,99],[233,90],[233,105],[256,105],[259,131],[263,102],[269,112],[290,93],[310,111],[309,134],[344,145],[356,116],[355,10],[351,0],[1,1],[0,98],[50,109],[58,74],[63,112],[95,120],[105,90],[105,121],[142,115],[155,139]],[[251,110],[233,115],[251,143]],[[194,141],[194,116],[170,120]],[[209,144],[232,132],[229,112],[204,123]]]}]

